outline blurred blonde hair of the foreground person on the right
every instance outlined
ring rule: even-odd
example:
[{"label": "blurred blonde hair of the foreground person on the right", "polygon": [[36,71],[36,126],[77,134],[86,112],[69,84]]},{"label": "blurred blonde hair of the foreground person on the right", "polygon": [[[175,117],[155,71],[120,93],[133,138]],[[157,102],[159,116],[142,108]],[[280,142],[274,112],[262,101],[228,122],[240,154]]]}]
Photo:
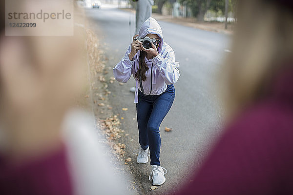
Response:
[{"label": "blurred blonde hair of the foreground person on the right", "polygon": [[293,11],[264,0],[239,4],[232,53],[221,92],[228,117],[262,98],[271,79],[293,59]]}]

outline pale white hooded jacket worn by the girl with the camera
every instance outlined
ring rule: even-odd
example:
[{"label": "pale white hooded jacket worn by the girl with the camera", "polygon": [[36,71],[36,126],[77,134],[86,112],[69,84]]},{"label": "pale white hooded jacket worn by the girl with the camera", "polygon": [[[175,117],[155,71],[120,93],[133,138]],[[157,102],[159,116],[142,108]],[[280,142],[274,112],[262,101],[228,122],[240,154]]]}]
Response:
[{"label": "pale white hooded jacket worn by the girl with the camera", "polygon": [[[150,60],[145,59],[146,65],[149,69],[146,71],[146,81],[143,81],[143,88],[145,94],[149,94],[151,85],[151,64],[153,64],[151,95],[160,95],[165,92],[167,85],[174,84],[178,80],[180,76],[178,70],[179,62],[175,61],[173,49],[166,42],[164,42],[162,29],[159,23],[151,17],[148,18],[141,26],[139,37],[146,37],[147,34],[156,34],[161,38],[161,41],[158,46],[159,55]],[[135,78],[135,73],[139,67],[140,51],[136,53],[133,61],[131,61],[128,57],[130,52],[131,45],[129,45],[125,56],[113,68],[113,71],[115,79],[119,82],[127,82],[131,75],[133,75],[133,78],[136,80],[134,103],[138,103],[138,89],[140,89],[140,86],[138,79]]]}]

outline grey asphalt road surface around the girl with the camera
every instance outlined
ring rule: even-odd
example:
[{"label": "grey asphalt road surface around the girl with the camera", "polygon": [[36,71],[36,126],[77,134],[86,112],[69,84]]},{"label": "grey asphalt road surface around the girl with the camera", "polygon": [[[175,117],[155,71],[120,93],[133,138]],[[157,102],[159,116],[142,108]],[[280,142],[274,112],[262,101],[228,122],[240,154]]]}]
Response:
[{"label": "grey asphalt road surface around the girl with the camera", "polygon": [[[99,35],[102,50],[108,57],[106,66],[114,67],[125,54],[134,33],[135,16],[118,9],[88,9],[86,14],[93,21],[93,28]],[[129,20],[131,26],[129,27]],[[194,172],[207,154],[207,146],[220,133],[221,106],[218,103],[217,74],[229,49],[230,37],[182,25],[158,21],[164,40],[175,51],[179,61],[180,78],[175,84],[176,97],[171,110],[161,124],[161,165],[168,171],[166,183],[155,191],[149,191],[151,182],[148,174],[150,165],[136,164],[134,150],[139,148],[134,94],[129,88],[134,79],[126,85],[118,82],[109,84],[110,103],[114,113],[124,117],[122,129],[129,136],[123,137],[126,152],[132,157],[130,166],[136,176],[135,182],[140,194],[163,194],[179,188],[181,182],[188,182],[187,175]],[[112,71],[109,77],[113,77]],[[122,107],[128,108],[122,111]],[[165,127],[172,128],[165,132]]]}]

